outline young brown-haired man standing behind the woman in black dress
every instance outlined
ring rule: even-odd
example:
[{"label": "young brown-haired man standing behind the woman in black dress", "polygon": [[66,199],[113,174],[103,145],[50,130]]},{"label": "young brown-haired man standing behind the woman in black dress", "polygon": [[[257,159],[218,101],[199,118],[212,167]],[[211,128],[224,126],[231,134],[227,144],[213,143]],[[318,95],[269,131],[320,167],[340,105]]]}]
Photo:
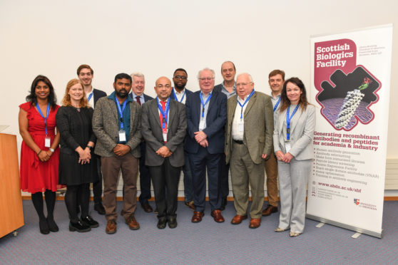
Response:
[{"label": "young brown-haired man standing behind the woman in black dress", "polygon": [[[93,81],[94,71],[87,64],[82,64],[77,69],[78,79],[83,83],[84,92],[86,92],[88,103],[92,108],[95,108],[97,100],[102,97],[106,97],[106,93],[102,90],[93,88],[91,82]],[[93,153],[94,159],[97,160],[97,174],[98,180],[93,183],[93,194],[94,194],[94,209],[98,214],[105,214],[105,209],[102,205],[102,172],[101,172],[101,157]]]}]

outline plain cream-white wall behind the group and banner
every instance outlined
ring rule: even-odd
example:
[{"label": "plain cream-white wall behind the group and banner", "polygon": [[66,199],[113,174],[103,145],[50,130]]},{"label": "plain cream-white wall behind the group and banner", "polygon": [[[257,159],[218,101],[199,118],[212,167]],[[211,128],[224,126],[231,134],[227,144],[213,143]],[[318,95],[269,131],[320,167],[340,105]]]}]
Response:
[{"label": "plain cream-white wall behind the group and banner", "polygon": [[[188,71],[188,88],[198,90],[196,74],[223,61],[251,73],[265,93],[267,74],[282,68],[310,87],[310,36],[398,22],[396,0],[352,1],[83,1],[2,0],[0,3],[0,125],[19,135],[18,105],[31,81],[48,76],[58,102],[76,68],[88,63],[93,84],[110,93],[117,73],[141,71],[154,95],[159,76]],[[394,36],[394,51],[397,51]],[[398,157],[398,56],[392,58],[392,89],[387,158]],[[394,115],[395,114],[395,115]],[[19,145],[21,137],[19,136]],[[395,148],[394,148],[395,147]]]}]

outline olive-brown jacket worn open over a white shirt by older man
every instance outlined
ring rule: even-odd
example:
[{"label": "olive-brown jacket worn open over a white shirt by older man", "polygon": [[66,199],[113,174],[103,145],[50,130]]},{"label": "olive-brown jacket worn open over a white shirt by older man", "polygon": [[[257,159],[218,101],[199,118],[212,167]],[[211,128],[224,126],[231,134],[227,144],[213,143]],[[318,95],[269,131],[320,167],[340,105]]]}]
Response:
[{"label": "olive-brown jacket worn open over a white shirt by older man", "polygon": [[[245,123],[243,142],[248,147],[252,162],[260,164],[263,161],[261,155],[269,156],[272,150],[272,132],[274,130],[272,101],[269,95],[255,91],[247,104],[243,118]],[[232,126],[236,108],[240,108],[238,95],[228,99],[228,122],[225,133],[225,160],[227,163],[230,162],[233,152]]]}]

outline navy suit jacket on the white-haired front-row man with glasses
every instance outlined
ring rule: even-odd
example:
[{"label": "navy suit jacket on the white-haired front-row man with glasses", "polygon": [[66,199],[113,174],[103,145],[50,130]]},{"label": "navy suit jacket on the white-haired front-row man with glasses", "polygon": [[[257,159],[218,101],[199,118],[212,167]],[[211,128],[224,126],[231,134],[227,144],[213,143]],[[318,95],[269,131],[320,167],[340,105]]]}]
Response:
[{"label": "navy suit jacket on the white-haired front-row man with glasses", "polygon": [[[185,150],[193,154],[198,152],[200,146],[195,140],[195,132],[199,131],[202,109],[199,94],[200,90],[190,94],[185,101],[188,125]],[[206,128],[203,130],[203,133],[208,135],[208,152],[210,152],[210,154],[218,154],[224,152],[224,125],[227,120],[227,96],[221,92],[213,91],[208,104]]]}]

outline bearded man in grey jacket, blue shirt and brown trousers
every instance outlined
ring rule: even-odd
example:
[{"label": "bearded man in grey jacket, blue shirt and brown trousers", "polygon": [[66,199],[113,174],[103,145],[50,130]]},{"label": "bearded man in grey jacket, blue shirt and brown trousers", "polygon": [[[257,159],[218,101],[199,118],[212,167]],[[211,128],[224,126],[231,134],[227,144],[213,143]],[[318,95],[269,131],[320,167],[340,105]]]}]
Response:
[{"label": "bearded man in grey jacket, blue shirt and brown trousers", "polygon": [[131,76],[119,73],[113,83],[115,91],[100,98],[93,114],[93,131],[97,137],[95,153],[101,156],[103,172],[103,206],[108,221],[106,233],[116,233],[116,192],[119,171],[124,184],[122,215],[130,229],[140,226],[136,211],[138,159],[141,143],[141,107],[131,99]]}]

